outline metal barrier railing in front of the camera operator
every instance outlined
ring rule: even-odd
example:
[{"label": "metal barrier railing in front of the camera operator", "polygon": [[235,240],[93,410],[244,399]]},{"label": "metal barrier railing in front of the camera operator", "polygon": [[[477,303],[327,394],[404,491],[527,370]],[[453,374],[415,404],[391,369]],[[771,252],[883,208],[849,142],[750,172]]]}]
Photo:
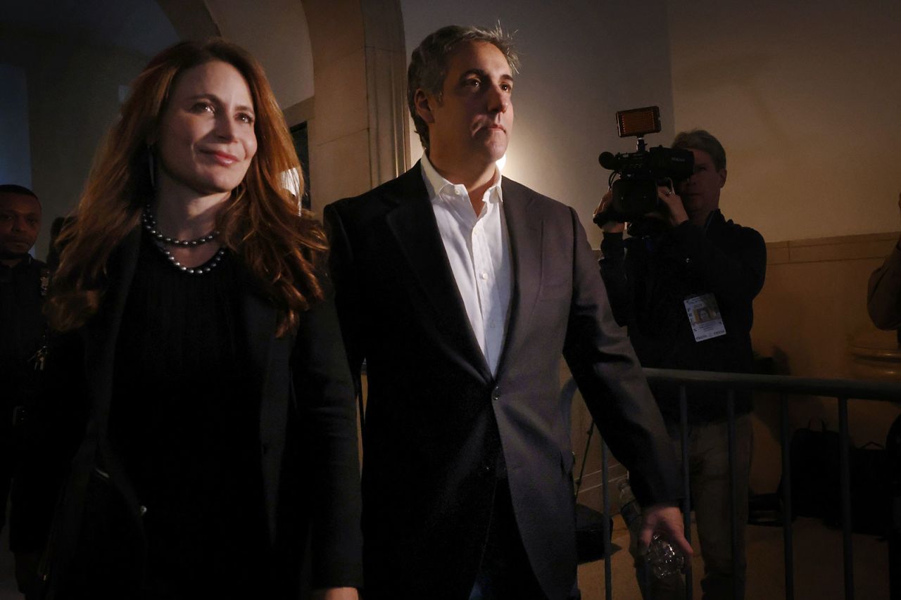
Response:
[{"label": "metal barrier railing in front of the camera operator", "polygon": [[[842,563],[844,575],[844,597],[847,600],[854,598],[854,568],[852,564],[853,554],[851,547],[851,438],[848,432],[848,401],[853,400],[901,400],[901,384],[878,381],[860,381],[851,379],[821,379],[811,377],[790,377],[780,375],[750,375],[743,373],[716,373],[711,371],[684,371],[663,368],[645,368],[645,376],[652,383],[666,383],[679,387],[679,414],[682,456],[688,454],[688,388],[724,389],[726,390],[726,411],[728,419],[728,444],[730,466],[730,505],[732,514],[732,549],[733,549],[733,573],[738,572],[738,517],[737,506],[737,467],[735,461],[735,392],[736,391],[767,391],[779,395],[779,422],[780,443],[782,447],[782,530],[783,549],[785,551],[785,590],[786,599],[795,597],[795,562],[792,543],[792,514],[791,514],[791,464],[789,456],[790,427],[788,423],[788,401],[786,395],[824,396],[833,397],[838,405],[839,422],[839,483],[840,506],[842,516]],[[562,395],[571,398],[575,394],[576,386],[570,379],[563,387]],[[608,491],[608,466],[607,447],[602,440],[601,444],[601,479],[603,482],[603,505],[605,527],[609,523],[610,495]],[[691,541],[691,504],[689,486],[688,461],[682,461],[682,482],[685,498],[682,503],[682,513],[685,519],[685,533],[688,541]],[[583,462],[584,466],[584,462]],[[581,475],[580,475],[581,477]],[[610,532],[604,532],[605,559],[605,598],[612,600],[612,573],[610,566]],[[686,574],[686,597],[693,597],[692,577],[690,565]],[[733,577],[733,597],[741,597],[739,586],[741,582]]]}]

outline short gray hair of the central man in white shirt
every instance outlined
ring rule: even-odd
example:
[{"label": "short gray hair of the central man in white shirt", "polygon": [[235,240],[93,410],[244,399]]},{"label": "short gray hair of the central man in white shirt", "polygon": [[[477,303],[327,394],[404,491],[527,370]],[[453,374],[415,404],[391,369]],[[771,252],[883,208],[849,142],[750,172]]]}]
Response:
[{"label": "short gray hair of the central man in white shirt", "polygon": [[448,57],[460,44],[472,41],[494,44],[497,50],[504,54],[510,70],[513,73],[519,72],[519,55],[513,46],[513,36],[504,32],[499,23],[491,29],[471,25],[467,27],[449,25],[428,35],[413,51],[410,67],[406,70],[406,102],[416,126],[416,133],[419,133],[419,139],[423,142],[425,150],[429,149],[429,127],[422,117],[416,114],[414,104],[416,90],[422,89],[441,102],[444,78],[448,72]]}]

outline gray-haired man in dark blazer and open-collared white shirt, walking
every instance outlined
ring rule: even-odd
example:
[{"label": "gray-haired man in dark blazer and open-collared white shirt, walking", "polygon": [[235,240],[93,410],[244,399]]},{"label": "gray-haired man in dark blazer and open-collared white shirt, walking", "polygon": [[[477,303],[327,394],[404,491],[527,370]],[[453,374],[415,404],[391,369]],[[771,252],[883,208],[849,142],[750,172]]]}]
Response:
[{"label": "gray-haired man in dark blazer and open-collared white shirt, walking", "polygon": [[368,598],[578,597],[562,354],[638,482],[643,537],[684,551],[675,458],[572,209],[502,178],[517,59],[445,27],[408,73],[426,155],[325,208],[351,368],[367,361]]}]

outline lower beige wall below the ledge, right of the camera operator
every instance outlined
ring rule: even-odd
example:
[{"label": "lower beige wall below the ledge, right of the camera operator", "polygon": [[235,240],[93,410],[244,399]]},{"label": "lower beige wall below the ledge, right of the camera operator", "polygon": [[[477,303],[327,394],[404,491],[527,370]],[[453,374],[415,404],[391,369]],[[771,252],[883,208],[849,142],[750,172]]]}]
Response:
[{"label": "lower beige wall below the ledge, right of the camera operator", "polygon": [[[879,332],[867,314],[869,274],[897,239],[892,232],[769,244],[767,281],[754,302],[754,349],[776,359],[779,371],[787,375],[858,378],[852,346],[897,347],[895,332]],[[834,399],[789,400],[793,428],[822,419],[837,431]],[[885,444],[888,427],[899,413],[901,398],[898,403],[851,400],[851,441],[858,446],[868,441]],[[778,398],[760,396],[755,417],[751,483],[772,491],[779,472]]]}]

